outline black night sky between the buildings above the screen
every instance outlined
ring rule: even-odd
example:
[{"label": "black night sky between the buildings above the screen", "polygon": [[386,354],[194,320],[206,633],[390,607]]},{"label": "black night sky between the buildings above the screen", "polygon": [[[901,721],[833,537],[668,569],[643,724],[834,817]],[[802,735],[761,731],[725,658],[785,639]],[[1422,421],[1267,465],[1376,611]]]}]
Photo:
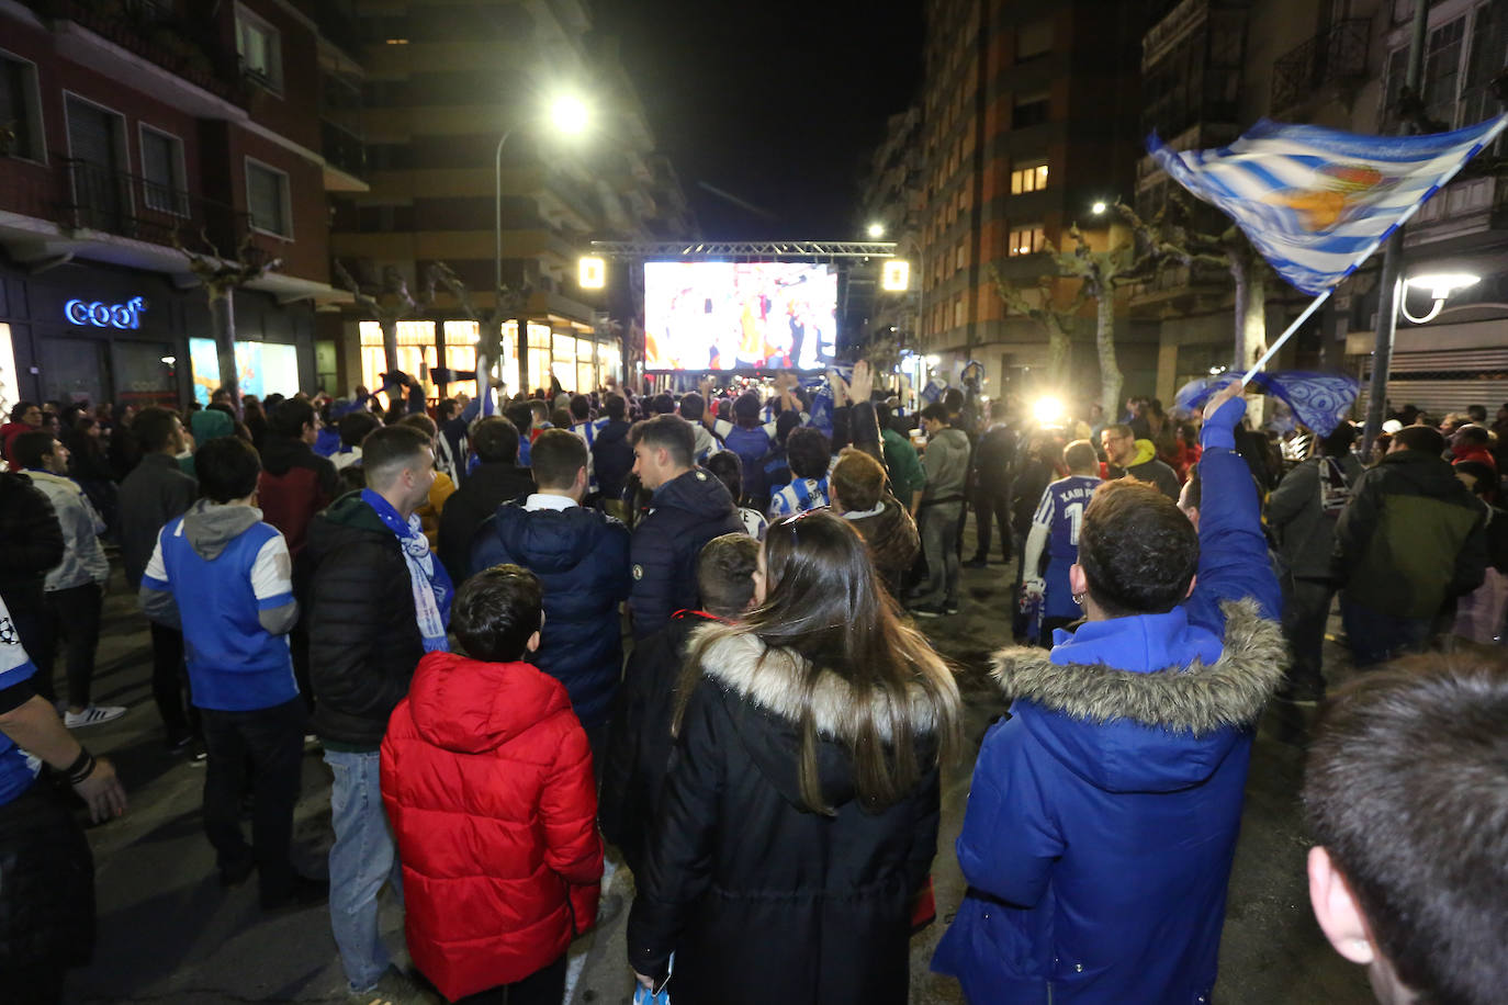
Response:
[{"label": "black night sky between the buildings above the screen", "polygon": [[593,12],[621,42],[703,237],[864,240],[869,155],[921,78],[920,0],[596,0]]}]

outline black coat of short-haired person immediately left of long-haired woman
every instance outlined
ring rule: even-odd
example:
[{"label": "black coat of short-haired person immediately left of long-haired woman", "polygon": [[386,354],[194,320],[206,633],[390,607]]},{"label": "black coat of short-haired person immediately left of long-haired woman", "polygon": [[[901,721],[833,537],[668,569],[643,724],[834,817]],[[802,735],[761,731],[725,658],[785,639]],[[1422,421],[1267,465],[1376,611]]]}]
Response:
[{"label": "black coat of short-haired person immediately left of long-haired woman", "polygon": [[713,621],[700,610],[679,612],[668,625],[635,643],[612,702],[597,821],[633,875],[644,872],[644,847],[676,746],[670,720],[686,643],[695,628]]}]

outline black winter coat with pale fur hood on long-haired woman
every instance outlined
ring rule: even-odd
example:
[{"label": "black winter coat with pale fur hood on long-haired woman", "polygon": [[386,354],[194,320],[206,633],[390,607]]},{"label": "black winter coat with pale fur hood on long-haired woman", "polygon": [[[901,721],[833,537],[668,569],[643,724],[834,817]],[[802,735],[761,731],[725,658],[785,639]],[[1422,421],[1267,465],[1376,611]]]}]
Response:
[{"label": "black winter coat with pale fur hood on long-haired woman", "polygon": [[[630,966],[659,978],[676,952],[676,1005],[903,1005],[911,901],[936,851],[936,768],[899,803],[861,809],[843,738],[857,699],[825,675],[811,704],[835,815],[805,809],[799,657],[736,625],[701,631],[722,637],[703,660],[635,877]],[[924,735],[917,744],[932,747]]]}]

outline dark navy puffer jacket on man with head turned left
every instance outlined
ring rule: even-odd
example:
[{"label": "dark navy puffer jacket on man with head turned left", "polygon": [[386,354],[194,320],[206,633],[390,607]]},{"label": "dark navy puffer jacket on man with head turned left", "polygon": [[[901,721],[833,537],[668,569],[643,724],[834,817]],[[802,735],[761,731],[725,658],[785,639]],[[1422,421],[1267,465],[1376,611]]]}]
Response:
[{"label": "dark navy puffer jacket on man with head turned left", "polygon": [[733,496],[706,470],[694,467],[654,490],[648,515],[633,526],[635,639],[664,628],[677,610],[697,607],[697,556],[724,533],[743,533],[743,521]]}]

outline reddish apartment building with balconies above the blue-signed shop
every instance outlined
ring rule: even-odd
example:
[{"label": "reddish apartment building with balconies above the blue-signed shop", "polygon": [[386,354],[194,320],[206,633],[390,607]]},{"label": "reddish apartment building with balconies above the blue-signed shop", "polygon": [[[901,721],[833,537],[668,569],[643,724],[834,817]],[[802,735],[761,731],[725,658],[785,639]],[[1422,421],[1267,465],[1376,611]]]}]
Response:
[{"label": "reddish apartment building with balconies above the blue-signed shop", "polygon": [[[279,259],[235,294],[241,387],[320,380],[320,95],[354,63],[291,0],[0,0],[0,399],[185,404],[219,384],[182,244]],[[332,377],[333,378],[333,377]]]}]

